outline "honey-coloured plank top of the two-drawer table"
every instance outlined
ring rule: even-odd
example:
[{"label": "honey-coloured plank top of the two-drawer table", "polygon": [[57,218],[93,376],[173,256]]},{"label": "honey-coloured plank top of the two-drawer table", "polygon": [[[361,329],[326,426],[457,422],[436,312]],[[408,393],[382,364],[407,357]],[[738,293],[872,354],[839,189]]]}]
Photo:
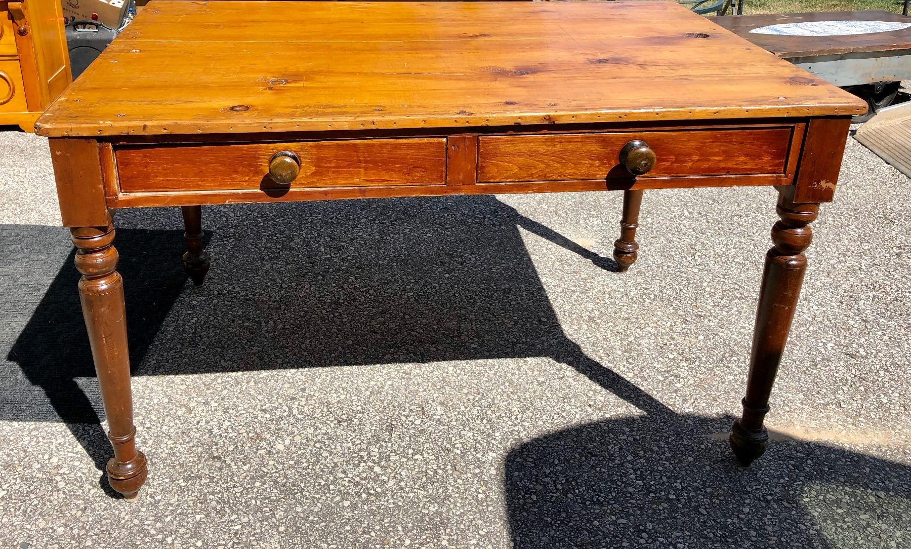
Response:
[{"label": "honey-coloured plank top of the two-drawer table", "polygon": [[52,137],[853,115],[865,102],[675,2],[154,1]]}]

